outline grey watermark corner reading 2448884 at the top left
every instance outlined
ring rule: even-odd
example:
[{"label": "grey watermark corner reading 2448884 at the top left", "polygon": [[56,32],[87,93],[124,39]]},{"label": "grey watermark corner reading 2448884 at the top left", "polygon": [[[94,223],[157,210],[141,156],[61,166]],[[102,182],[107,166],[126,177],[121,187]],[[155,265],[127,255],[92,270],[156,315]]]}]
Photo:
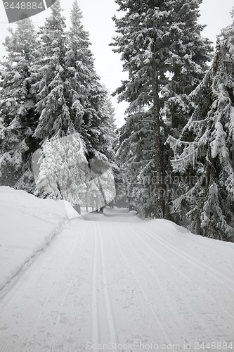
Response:
[{"label": "grey watermark corner reading 2448884 at the top left", "polygon": [[51,7],[56,0],[3,0],[8,23],[18,22],[37,15]]}]

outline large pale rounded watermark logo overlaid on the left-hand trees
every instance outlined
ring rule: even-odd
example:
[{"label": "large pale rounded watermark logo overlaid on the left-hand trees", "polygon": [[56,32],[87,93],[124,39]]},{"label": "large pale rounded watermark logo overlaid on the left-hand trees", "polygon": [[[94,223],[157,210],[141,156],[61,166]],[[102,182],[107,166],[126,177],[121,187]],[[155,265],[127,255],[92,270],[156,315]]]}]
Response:
[{"label": "large pale rounded watermark logo overlaid on the left-hand trees", "polygon": [[32,155],[32,170],[41,198],[64,199],[91,212],[116,196],[112,164],[99,154],[87,159],[77,132],[46,140]]}]

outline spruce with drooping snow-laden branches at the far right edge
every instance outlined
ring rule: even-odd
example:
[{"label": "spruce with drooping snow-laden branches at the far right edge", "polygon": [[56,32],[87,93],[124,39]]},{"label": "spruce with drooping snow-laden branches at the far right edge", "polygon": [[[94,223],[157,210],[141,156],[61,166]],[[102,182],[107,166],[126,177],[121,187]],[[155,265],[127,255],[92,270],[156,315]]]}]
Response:
[{"label": "spruce with drooping snow-laden branches at the far right edge", "polygon": [[[234,13],[233,13],[234,19]],[[219,36],[214,62],[190,94],[195,111],[180,139],[169,137],[174,170],[197,175],[173,204],[188,210],[190,230],[234,241],[234,21]]]}]

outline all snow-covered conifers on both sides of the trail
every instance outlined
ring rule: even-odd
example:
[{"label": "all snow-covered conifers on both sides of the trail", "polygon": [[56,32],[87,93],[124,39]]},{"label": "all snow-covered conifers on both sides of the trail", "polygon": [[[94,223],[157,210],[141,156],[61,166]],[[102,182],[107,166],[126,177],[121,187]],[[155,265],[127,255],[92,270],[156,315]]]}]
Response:
[{"label": "all snow-covered conifers on both sides of the trail", "polygon": [[[57,0],[39,32],[21,20],[4,43],[0,182],[98,203],[100,189],[103,199],[111,194],[105,172],[112,170],[117,205],[234,241],[234,22],[213,53],[198,23],[202,0],[115,2],[111,45],[128,79],[114,94],[129,103],[126,122],[115,132],[77,1],[66,30]],[[31,159],[39,147],[35,184]],[[103,170],[104,187],[93,182]]]}]

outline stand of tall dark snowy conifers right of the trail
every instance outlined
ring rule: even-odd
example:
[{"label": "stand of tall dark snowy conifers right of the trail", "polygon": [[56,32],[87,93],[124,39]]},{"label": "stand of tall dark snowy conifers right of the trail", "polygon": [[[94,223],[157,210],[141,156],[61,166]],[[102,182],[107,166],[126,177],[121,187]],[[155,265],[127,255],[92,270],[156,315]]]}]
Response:
[{"label": "stand of tall dark snowy conifers right of the trail", "polygon": [[112,45],[129,76],[115,92],[129,102],[122,195],[146,218],[234,241],[234,22],[213,55],[197,22],[202,0],[115,2]]}]

